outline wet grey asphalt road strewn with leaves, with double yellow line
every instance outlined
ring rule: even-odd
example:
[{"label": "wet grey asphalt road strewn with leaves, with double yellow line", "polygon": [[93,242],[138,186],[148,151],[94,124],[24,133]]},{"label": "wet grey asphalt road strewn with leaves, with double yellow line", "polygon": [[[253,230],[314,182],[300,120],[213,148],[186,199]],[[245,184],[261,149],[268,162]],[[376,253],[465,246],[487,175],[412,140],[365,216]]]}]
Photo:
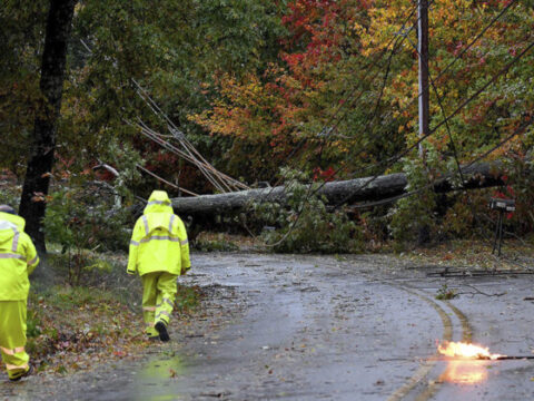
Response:
[{"label": "wet grey asphalt road strewn with leaves, with double yellow line", "polygon": [[[534,400],[532,360],[451,362],[436,355],[443,340],[533,355],[534,275],[445,278],[414,267],[377,255],[197,254],[194,274],[184,280],[217,285],[221,307],[238,306],[239,313],[218,330],[175,335],[142,363],[77,375],[48,394],[66,400]],[[443,284],[459,296],[437,301]],[[37,383],[24,385],[12,395],[46,394],[36,391]]]}]

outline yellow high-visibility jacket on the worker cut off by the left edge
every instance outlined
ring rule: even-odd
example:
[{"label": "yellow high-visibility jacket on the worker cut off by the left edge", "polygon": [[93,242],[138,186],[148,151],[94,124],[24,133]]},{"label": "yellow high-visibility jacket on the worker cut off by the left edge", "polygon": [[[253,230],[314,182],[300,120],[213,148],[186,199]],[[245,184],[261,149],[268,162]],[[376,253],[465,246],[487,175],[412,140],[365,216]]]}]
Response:
[{"label": "yellow high-visibility jacket on the worker cut off by the left edge", "polygon": [[39,256],[24,225],[22,217],[0,212],[0,301],[28,299],[28,276],[39,264]]}]

